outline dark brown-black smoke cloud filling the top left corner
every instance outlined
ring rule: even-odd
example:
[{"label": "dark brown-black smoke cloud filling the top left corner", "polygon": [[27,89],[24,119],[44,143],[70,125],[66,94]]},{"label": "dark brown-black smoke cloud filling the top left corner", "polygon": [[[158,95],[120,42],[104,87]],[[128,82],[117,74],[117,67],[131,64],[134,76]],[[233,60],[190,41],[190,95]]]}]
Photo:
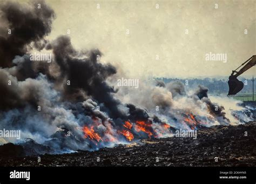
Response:
[{"label": "dark brown-black smoke cloud filling the top left corner", "polygon": [[8,2],[0,5],[0,11],[0,20],[5,24],[0,32],[0,66],[10,67],[12,59],[23,56],[31,44],[36,49],[44,47],[44,37],[51,32],[55,13],[44,1],[35,1],[29,6]]}]

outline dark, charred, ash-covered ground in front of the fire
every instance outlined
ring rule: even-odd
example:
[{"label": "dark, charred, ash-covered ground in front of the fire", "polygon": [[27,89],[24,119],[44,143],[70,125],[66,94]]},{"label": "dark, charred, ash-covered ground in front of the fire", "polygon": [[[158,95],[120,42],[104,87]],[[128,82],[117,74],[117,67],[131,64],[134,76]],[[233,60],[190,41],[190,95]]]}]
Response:
[{"label": "dark, charred, ash-covered ground in front of the fire", "polygon": [[[255,135],[256,121],[238,126],[201,127],[197,139],[144,139],[93,152],[40,155],[41,162],[38,162],[38,155],[2,155],[0,166],[255,166]],[[17,153],[21,147],[12,148]],[[4,146],[0,149],[3,154]]]}]

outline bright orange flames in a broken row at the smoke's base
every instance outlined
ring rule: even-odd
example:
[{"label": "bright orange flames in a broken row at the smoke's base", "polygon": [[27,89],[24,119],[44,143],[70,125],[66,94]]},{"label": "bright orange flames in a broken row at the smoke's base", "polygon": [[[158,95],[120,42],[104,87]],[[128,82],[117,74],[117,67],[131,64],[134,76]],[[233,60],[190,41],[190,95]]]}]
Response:
[{"label": "bright orange flames in a broken row at the smoke's base", "polygon": [[[184,114],[185,118],[181,122],[190,126],[191,129],[196,128],[198,124],[201,124],[192,113]],[[124,136],[127,141],[131,142],[138,137],[144,137],[145,135],[140,134],[140,132],[144,132],[149,138],[156,137],[161,138],[165,137],[172,133],[171,125],[161,122],[156,123],[150,120],[148,121],[134,121],[126,120],[123,122],[122,126],[116,126],[114,128],[112,121],[104,121],[102,124],[106,127],[106,130],[97,132],[94,127],[98,127],[100,125],[100,120],[93,119],[93,124],[90,126],[84,126],[84,138],[92,140],[94,144],[97,145],[97,142],[101,142],[105,144],[106,142],[113,142],[114,144],[119,144],[122,142],[122,137]]]}]

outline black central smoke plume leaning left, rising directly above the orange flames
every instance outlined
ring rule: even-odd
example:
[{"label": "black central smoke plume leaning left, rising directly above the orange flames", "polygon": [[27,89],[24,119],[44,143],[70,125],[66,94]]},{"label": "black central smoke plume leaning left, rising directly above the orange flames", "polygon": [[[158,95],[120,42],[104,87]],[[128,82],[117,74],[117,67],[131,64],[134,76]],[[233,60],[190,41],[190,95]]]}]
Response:
[{"label": "black central smoke plume leaning left, rising directly above the orange flames", "polygon": [[[104,109],[111,117],[124,117],[118,106],[120,101],[114,99],[111,93],[114,88],[106,83],[106,79],[115,74],[116,68],[110,64],[99,63],[102,53],[99,50],[91,50],[87,53],[79,53],[73,49],[68,36],[60,36],[49,45],[55,56],[55,62],[60,69],[60,79],[64,87],[64,93],[72,99],[85,100],[80,94],[96,99],[98,103],[104,103]],[[70,86],[66,85],[67,80]],[[82,90],[82,92],[81,92]]]}]

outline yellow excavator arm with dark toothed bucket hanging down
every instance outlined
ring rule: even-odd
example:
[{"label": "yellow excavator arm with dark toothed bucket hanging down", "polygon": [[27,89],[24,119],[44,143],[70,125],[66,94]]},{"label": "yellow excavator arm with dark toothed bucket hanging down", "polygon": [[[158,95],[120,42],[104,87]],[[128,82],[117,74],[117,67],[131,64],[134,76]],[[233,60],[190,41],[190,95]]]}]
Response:
[{"label": "yellow excavator arm with dark toothed bucket hanging down", "polygon": [[231,76],[228,78],[229,80],[227,82],[228,86],[230,87],[230,90],[228,91],[228,96],[235,95],[242,90],[242,88],[244,87],[244,83],[238,80],[237,77],[255,65],[256,65],[256,55],[253,55],[251,58],[247,59],[246,62],[241,64],[242,68],[239,71],[237,70],[241,66],[239,66],[237,69],[232,71]]}]

